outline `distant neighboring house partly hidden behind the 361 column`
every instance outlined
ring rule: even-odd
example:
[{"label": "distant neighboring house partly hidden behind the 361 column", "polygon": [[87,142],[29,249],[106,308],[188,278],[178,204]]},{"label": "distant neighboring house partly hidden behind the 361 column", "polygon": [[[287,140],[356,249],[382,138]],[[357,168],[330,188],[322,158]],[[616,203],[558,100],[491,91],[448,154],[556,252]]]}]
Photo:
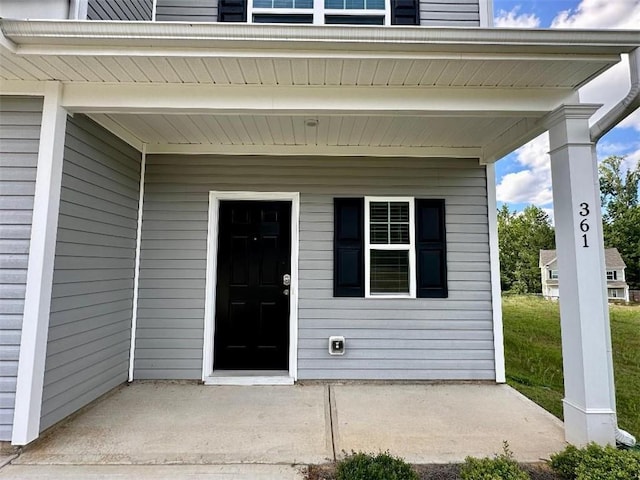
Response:
[{"label": "distant neighboring house partly hidden behind the 361 column", "polygon": [[[607,248],[604,251],[605,275],[607,279],[607,297],[609,300],[629,301],[629,285],[627,285],[624,270],[627,266],[617,248]],[[557,299],[558,291],[558,261],[555,250],[540,250],[540,278],[542,280],[542,296]]]}]

